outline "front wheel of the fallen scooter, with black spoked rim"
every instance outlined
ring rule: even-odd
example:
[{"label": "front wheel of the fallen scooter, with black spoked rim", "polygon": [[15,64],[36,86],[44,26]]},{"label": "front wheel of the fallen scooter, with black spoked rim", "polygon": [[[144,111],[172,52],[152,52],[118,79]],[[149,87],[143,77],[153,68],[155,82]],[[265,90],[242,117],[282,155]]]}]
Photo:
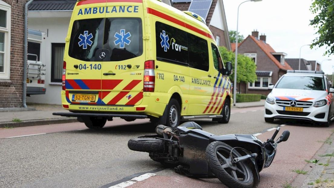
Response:
[{"label": "front wheel of the fallen scooter, with black spoked rim", "polygon": [[[212,173],[227,187],[252,188],[254,177],[251,168],[245,162],[232,163],[232,147],[222,142],[212,142],[206,147],[206,160]],[[232,151],[232,158],[241,157]]]}]

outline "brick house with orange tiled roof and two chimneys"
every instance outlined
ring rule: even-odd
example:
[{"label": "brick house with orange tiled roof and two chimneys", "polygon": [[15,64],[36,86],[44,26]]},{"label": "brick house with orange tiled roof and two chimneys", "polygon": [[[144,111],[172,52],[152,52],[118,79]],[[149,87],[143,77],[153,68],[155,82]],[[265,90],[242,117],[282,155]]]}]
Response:
[{"label": "brick house with orange tiled roof and two chimneys", "polygon": [[[261,35],[259,31],[253,31],[241,43],[238,44],[238,53],[248,56],[254,60],[257,66],[257,80],[254,83],[238,83],[237,88],[240,93],[256,93],[268,95],[269,84],[276,84],[278,79],[287,70],[292,70],[285,61],[287,54],[276,52],[267,42],[266,35]],[[235,43],[231,44],[232,51],[235,51]]]}]

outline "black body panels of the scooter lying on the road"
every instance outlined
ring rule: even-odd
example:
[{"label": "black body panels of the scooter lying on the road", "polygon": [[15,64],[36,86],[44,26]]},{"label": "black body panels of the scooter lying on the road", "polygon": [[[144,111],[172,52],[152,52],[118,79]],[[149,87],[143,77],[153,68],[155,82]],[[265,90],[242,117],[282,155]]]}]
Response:
[{"label": "black body panels of the scooter lying on the road", "polygon": [[[216,136],[201,129],[188,129],[187,127],[179,126],[177,130],[180,132],[179,146],[183,149],[179,157],[180,164],[187,164],[189,166],[189,173],[193,177],[198,178],[215,178],[212,174],[205,157],[206,147],[214,141],[220,141],[230,145],[231,147],[242,147],[252,153],[258,153],[256,160],[252,161],[252,171],[255,182],[260,181],[259,172],[264,167],[265,152],[263,151],[263,142],[253,135],[247,134],[228,134],[223,136]],[[183,154],[183,155],[182,155]],[[184,173],[187,175],[187,173]],[[189,176],[189,175],[188,175]]]}]

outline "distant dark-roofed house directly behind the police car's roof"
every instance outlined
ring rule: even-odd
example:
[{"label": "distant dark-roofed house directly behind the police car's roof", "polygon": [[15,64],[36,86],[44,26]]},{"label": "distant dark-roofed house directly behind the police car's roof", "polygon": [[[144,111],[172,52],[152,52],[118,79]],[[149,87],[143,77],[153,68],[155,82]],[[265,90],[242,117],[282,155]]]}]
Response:
[{"label": "distant dark-roofed house directly behind the police car's roof", "polygon": [[[299,59],[298,58],[291,58],[285,59],[285,61],[290,65],[293,70],[299,69]],[[304,59],[300,59],[300,70],[302,71],[314,71],[315,64],[317,63],[317,71],[321,71],[321,65],[317,61],[307,61]]]}]

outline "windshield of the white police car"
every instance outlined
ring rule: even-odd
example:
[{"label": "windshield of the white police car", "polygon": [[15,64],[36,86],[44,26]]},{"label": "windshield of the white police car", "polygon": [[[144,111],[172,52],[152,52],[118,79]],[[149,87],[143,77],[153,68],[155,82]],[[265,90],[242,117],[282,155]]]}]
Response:
[{"label": "windshield of the white police car", "polygon": [[312,76],[284,76],[276,88],[325,90],[325,81],[322,77]]}]

